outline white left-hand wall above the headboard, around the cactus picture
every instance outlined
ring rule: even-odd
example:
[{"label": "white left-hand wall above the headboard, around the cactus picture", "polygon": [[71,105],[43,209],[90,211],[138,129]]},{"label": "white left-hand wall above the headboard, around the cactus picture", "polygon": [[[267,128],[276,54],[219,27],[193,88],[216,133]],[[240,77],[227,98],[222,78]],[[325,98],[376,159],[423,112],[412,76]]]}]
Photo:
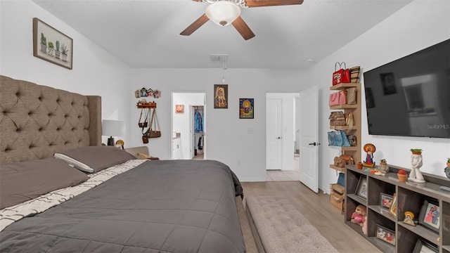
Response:
[{"label": "white left-hand wall above the headboard, around the cactus picture", "polygon": [[[72,70],[33,56],[33,18],[73,39]],[[120,119],[127,123],[127,129],[130,127],[132,94],[127,65],[32,1],[0,1],[0,31],[0,74],[83,95],[100,95],[103,119]],[[129,137],[122,137],[127,145]]]}]

